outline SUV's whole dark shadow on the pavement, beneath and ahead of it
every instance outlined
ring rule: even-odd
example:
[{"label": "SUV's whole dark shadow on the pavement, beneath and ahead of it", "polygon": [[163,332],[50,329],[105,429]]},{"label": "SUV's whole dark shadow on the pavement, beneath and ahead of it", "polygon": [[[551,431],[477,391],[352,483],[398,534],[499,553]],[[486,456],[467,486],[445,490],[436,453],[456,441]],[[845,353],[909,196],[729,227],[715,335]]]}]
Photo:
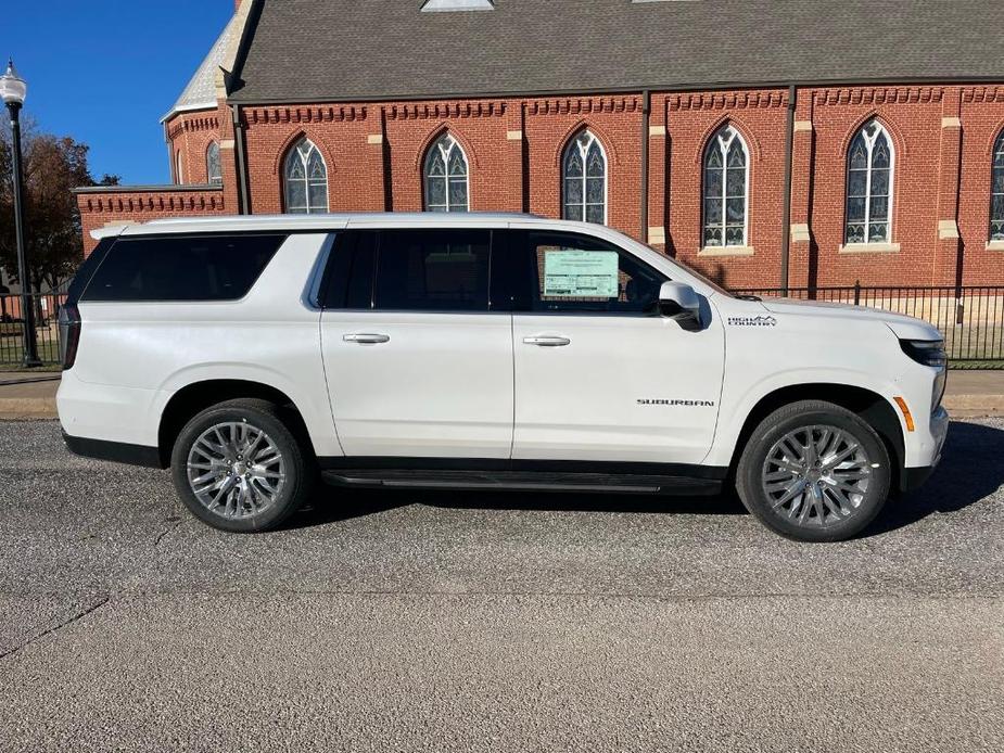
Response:
[{"label": "SUV's whole dark shadow on the pavement, beneath and ahead of it", "polygon": [[[935,513],[963,510],[1004,483],[1004,430],[955,421],[944,455],[920,489],[892,499],[862,534],[877,536],[912,525]],[[528,492],[427,492],[345,489],[318,484],[308,506],[283,528],[309,528],[366,518],[410,505],[468,510],[546,510],[556,512],[631,512],[660,514],[747,514],[732,488],[714,497]]]}]

